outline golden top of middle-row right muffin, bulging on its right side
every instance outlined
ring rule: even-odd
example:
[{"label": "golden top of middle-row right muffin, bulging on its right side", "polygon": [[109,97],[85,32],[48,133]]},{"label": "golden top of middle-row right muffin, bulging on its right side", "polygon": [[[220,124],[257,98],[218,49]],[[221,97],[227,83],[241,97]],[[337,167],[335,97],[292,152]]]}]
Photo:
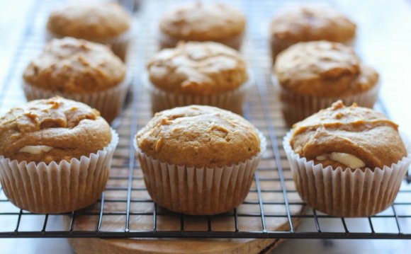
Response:
[{"label": "golden top of middle-row right muffin, bulging on its right side", "polygon": [[274,71],[284,88],[319,97],[367,91],[378,81],[378,73],[361,64],[351,47],[325,40],[288,47],[278,54]]}]

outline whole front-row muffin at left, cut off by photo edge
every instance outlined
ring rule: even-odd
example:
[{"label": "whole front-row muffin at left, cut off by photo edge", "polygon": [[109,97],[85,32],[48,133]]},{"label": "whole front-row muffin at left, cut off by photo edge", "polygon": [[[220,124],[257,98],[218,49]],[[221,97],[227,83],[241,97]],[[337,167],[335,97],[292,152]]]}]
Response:
[{"label": "whole front-row muffin at left, cut off by photo edge", "polygon": [[0,117],[0,181],[10,202],[35,213],[71,212],[96,202],[118,144],[100,113],[53,97]]}]

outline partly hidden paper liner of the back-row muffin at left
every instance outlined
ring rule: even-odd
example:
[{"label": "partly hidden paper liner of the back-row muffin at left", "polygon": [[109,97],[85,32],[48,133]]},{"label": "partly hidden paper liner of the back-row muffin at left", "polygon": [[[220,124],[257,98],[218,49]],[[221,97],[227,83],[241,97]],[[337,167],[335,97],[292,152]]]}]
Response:
[{"label": "partly hidden paper liner of the back-row muffin at left", "polygon": [[[51,33],[50,31],[47,31],[45,33],[46,41],[49,41],[55,38],[60,39],[62,37],[66,37],[66,36],[56,35],[55,33]],[[118,35],[117,37],[113,37],[112,39],[109,39],[109,40],[89,40],[89,41],[110,46],[113,53],[116,54],[118,57],[120,57],[120,59],[122,59],[123,62],[125,62],[127,60],[128,47],[130,45],[132,38],[133,38],[133,35],[130,30],[126,33]]]}]

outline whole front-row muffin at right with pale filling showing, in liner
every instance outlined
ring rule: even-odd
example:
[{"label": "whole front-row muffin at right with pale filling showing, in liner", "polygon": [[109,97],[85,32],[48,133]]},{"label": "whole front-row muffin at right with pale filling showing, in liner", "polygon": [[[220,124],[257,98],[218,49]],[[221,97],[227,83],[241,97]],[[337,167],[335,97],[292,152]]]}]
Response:
[{"label": "whole front-row muffin at right with pale filling showing, in liner", "polygon": [[283,146],[300,197],[335,217],[369,217],[388,208],[411,162],[398,125],[341,100],[295,124]]}]

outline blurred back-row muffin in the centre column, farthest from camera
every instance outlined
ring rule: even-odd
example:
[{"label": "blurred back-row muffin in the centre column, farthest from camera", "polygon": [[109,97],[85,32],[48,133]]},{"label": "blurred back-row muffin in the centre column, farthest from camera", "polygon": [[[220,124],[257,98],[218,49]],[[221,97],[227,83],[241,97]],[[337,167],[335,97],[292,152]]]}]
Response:
[{"label": "blurred back-row muffin in the centre column, farthest from camera", "polygon": [[244,14],[231,6],[191,3],[171,9],[159,23],[160,47],[183,41],[214,41],[240,50],[246,26]]}]

